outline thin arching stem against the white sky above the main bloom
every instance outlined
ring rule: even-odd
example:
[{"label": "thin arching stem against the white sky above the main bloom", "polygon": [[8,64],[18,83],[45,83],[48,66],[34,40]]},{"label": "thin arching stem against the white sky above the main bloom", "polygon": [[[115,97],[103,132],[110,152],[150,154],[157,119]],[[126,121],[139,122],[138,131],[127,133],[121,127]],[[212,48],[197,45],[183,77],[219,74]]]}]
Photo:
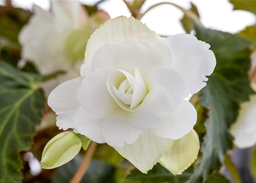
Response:
[{"label": "thin arching stem against the white sky above the main bloom", "polygon": [[183,11],[185,17],[187,17],[188,19],[193,20],[196,24],[204,27],[203,24],[201,23],[199,17],[193,11],[184,9],[183,7],[180,7],[179,5],[176,5],[176,4],[170,3],[170,2],[157,3],[157,4],[149,7],[144,13],[142,13],[140,15],[140,17],[138,17],[138,20],[140,20],[149,10],[151,10],[152,8],[157,7],[159,5],[162,5],[162,4],[169,4],[169,5],[173,5],[173,6],[177,7],[178,9]]}]

